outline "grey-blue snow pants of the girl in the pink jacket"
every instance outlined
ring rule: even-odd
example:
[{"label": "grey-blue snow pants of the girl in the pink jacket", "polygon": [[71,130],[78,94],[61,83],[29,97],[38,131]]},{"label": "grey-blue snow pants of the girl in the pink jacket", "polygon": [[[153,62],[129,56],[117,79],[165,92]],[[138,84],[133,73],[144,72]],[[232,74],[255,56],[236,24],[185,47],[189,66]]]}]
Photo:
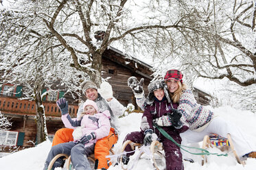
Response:
[{"label": "grey-blue snow pants of the girl in the pink jacket", "polygon": [[[71,155],[71,162],[73,168],[76,170],[91,170],[87,157],[94,153],[94,147],[95,144],[84,147],[84,144],[82,143],[75,145],[75,143],[73,142],[60,143],[58,145],[55,145],[51,147],[47,159],[45,160],[44,170],[48,168],[49,162],[51,162],[54,156],[58,154],[67,154],[68,156]],[[64,160],[62,160],[62,158],[58,158],[54,163],[52,169],[60,167],[63,162]]]}]

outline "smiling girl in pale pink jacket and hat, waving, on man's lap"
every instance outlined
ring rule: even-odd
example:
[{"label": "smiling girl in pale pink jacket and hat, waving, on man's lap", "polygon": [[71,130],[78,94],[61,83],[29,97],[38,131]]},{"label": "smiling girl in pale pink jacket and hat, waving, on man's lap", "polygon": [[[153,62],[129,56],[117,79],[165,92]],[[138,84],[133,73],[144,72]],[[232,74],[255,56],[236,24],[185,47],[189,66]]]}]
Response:
[{"label": "smiling girl in pale pink jacket and hat, waving, on man's lap", "polygon": [[[61,110],[61,119],[65,127],[75,129],[81,126],[82,137],[78,139],[74,138],[73,142],[60,143],[51,147],[47,160],[45,161],[44,170],[47,169],[49,162],[57,154],[71,155],[71,162],[76,170],[91,169],[87,157],[94,153],[96,141],[108,136],[110,130],[109,111],[98,112],[95,102],[87,99],[83,105],[83,114],[78,119],[71,119],[68,114],[68,103],[66,99],[59,99],[56,103]],[[74,131],[73,136],[79,136],[79,132]],[[63,160],[59,158],[54,163],[53,169],[60,167],[62,163]]]}]

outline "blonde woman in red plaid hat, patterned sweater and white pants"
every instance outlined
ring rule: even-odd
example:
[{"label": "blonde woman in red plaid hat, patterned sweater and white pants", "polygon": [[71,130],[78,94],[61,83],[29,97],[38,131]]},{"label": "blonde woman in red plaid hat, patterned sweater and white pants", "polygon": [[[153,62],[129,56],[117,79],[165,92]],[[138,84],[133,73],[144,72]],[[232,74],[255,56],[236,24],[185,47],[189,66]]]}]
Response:
[{"label": "blonde woman in red plaid hat, patterned sweater and white pants", "polygon": [[[253,142],[244,136],[244,132],[237,125],[233,125],[233,123],[221,117],[215,117],[211,110],[198,104],[191,90],[187,89],[183,84],[182,78],[181,71],[174,69],[167,71],[165,74],[165,82],[172,101],[174,104],[178,104],[178,108],[174,112],[180,112],[182,114],[181,121],[189,123],[189,130],[181,134],[183,138],[182,145],[198,143],[203,140],[205,135],[211,133],[216,133],[223,137],[231,134],[237,155],[242,160],[248,157],[256,158],[256,147]],[[157,124],[172,125],[172,123],[166,121],[168,119],[169,117],[167,116],[161,117]],[[185,156],[184,154],[183,156]]]}]

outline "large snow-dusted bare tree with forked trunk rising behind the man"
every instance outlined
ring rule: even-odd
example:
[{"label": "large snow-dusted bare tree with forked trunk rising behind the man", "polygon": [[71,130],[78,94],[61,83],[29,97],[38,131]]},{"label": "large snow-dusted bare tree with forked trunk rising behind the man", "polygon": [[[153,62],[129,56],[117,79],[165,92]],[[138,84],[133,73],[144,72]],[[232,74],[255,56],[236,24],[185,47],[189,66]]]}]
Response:
[{"label": "large snow-dusted bare tree with forked trunk rising behind the man", "polygon": [[[144,11],[138,19],[132,14],[134,1],[34,1],[26,3],[26,9],[34,12],[38,24],[43,21],[54,40],[69,51],[72,66],[87,73],[97,85],[101,82],[102,53],[110,45],[122,46],[124,50],[146,50],[157,55],[157,47],[164,45],[164,36],[170,37],[172,29],[191,29],[179,22],[182,17],[168,21]],[[142,5],[141,5],[142,4]],[[150,1],[139,5],[151,10],[167,9],[171,1]],[[151,5],[154,4],[154,5]],[[142,9],[142,8],[141,8]],[[141,10],[142,11],[142,10]],[[154,13],[154,11],[152,11]],[[144,15],[145,14],[145,15]],[[43,28],[45,29],[45,27]],[[194,28],[193,28],[194,29]],[[95,39],[96,38],[96,39]],[[166,38],[168,39],[168,38]],[[170,41],[170,40],[168,40]],[[127,48],[127,49],[126,49]],[[152,51],[152,49],[155,49]],[[144,53],[146,53],[144,51]]]}]

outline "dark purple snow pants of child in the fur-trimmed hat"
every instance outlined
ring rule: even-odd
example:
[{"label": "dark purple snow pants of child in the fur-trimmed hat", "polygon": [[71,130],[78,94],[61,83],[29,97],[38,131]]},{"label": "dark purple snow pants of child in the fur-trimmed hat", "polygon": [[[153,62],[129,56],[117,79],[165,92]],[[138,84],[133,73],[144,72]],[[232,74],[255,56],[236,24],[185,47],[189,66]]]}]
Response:
[{"label": "dark purple snow pants of child in the fur-trimmed hat", "polygon": [[[131,132],[126,135],[124,142],[130,140],[134,143],[143,143],[144,139],[143,132]],[[175,143],[165,138],[163,135],[159,136],[160,142],[163,143],[163,149],[165,150],[165,162],[166,162],[166,170],[182,170],[183,167],[183,157],[181,154],[181,149]],[[175,140],[175,136],[172,136]],[[181,144],[181,141],[177,141],[177,143]],[[127,145],[124,149],[125,151],[132,151],[130,145]],[[132,156],[134,152],[128,153],[127,156]]]}]

